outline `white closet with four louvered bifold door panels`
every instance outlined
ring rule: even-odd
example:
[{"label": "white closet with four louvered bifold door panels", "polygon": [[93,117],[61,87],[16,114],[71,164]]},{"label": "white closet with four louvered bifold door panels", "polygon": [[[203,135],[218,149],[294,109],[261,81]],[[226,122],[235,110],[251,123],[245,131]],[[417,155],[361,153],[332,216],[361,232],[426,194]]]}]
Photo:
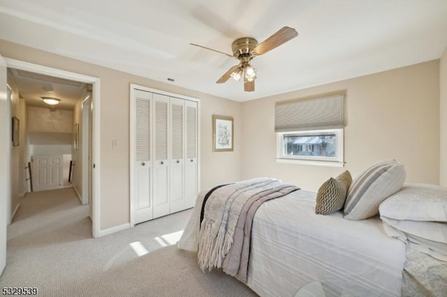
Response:
[{"label": "white closet with four louvered bifold door panels", "polygon": [[198,100],[131,85],[131,224],[191,208],[199,188]]}]

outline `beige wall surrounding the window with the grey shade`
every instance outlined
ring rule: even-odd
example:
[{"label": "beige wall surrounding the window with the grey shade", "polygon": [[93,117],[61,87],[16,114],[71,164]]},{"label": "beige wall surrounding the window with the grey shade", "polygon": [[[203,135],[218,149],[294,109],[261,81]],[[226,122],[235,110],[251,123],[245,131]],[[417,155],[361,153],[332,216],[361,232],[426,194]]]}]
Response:
[{"label": "beige wall surrounding the window with the grey shade", "polygon": [[[345,167],[277,163],[274,102],[339,90],[346,90]],[[242,119],[242,178],[271,176],[316,191],[344,169],[355,177],[397,158],[407,182],[439,183],[439,60],[244,102]]]}]

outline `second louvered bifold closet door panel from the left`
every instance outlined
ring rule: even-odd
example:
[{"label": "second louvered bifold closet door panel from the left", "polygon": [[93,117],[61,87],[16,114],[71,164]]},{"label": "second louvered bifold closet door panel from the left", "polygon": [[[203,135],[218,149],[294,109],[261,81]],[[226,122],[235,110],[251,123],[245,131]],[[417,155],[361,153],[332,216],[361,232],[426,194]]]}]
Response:
[{"label": "second louvered bifold closet door panel from the left", "polygon": [[153,94],[154,99],[154,218],[170,213],[169,203],[169,97]]}]

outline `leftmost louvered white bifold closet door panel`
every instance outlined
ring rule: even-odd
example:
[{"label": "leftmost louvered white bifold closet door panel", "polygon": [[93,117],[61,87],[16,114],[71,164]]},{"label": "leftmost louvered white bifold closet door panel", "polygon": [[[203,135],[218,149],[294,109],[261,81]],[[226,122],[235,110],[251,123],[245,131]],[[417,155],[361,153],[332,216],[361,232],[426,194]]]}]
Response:
[{"label": "leftmost louvered white bifold closet door panel", "polygon": [[152,220],[152,93],[135,90],[133,119],[133,224]]}]

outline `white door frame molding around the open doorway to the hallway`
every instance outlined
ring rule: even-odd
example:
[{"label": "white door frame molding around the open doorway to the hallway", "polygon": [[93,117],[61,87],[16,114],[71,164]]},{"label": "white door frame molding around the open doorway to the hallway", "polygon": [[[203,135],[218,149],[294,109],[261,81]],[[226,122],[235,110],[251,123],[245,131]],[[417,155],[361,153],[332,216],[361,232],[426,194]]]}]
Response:
[{"label": "white door frame molding around the open doorway to the hallway", "polygon": [[47,66],[42,66],[42,65],[38,65],[38,64],[34,64],[34,63],[29,63],[29,62],[25,62],[25,61],[20,61],[20,60],[16,60],[16,59],[9,59],[6,57],[3,57],[3,59],[6,61],[6,66],[8,68],[15,68],[15,69],[19,69],[19,70],[26,70],[29,72],[33,72],[33,73],[38,73],[38,74],[42,74],[42,75],[50,75],[50,76],[54,76],[54,77],[61,77],[64,79],[71,79],[71,80],[75,80],[78,82],[85,82],[88,84],[92,84],[93,89],[92,89],[92,96],[93,98],[91,98],[91,102],[93,105],[93,114],[92,114],[92,121],[91,124],[93,125],[92,127],[92,135],[91,135],[91,146],[93,149],[93,153],[92,153],[92,163],[95,164],[95,170],[93,170],[93,174],[91,176],[92,181],[91,181],[91,185],[92,185],[92,208],[93,208],[93,213],[92,213],[92,234],[93,237],[100,237],[101,234],[101,158],[100,158],[100,153],[101,153],[101,126],[100,126],[100,120],[101,120],[101,79],[99,79],[98,77],[91,77],[89,75],[82,75],[80,73],[72,73],[70,71],[66,71],[66,70],[61,70],[61,69],[57,69],[57,68],[51,68],[51,67],[47,67]]}]

